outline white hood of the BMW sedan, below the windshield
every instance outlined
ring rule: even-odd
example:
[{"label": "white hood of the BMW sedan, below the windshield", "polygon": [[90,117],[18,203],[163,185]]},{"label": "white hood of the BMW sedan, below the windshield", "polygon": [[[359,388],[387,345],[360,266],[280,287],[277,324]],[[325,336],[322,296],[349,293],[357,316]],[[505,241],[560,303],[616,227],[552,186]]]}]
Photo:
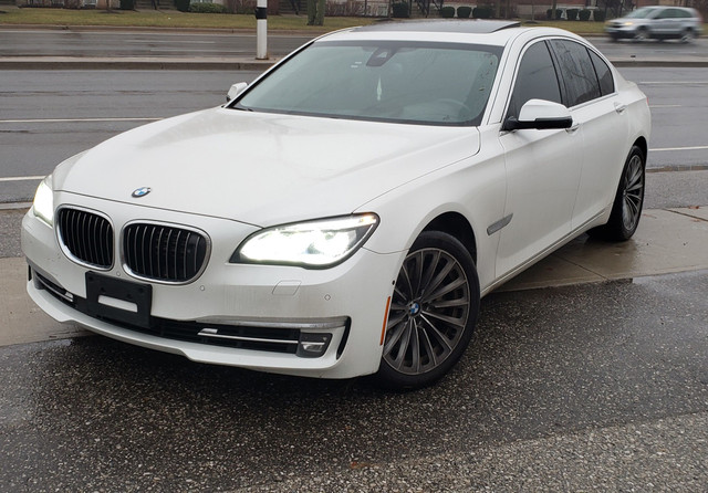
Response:
[{"label": "white hood of the BMW sedan, below the windshield", "polygon": [[54,188],[266,227],[352,212],[478,150],[473,127],[214,108],[108,139],[59,166]]}]

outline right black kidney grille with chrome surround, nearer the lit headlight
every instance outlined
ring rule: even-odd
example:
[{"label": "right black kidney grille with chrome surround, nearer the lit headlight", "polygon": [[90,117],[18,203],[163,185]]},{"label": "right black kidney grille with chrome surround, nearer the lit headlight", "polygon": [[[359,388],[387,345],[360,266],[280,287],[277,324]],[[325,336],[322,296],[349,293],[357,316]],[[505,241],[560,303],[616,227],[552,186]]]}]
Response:
[{"label": "right black kidney grille with chrome surround, nearer the lit headlight", "polygon": [[186,283],[205,268],[208,241],[198,231],[168,224],[131,223],[123,232],[125,268],[136,277]]}]

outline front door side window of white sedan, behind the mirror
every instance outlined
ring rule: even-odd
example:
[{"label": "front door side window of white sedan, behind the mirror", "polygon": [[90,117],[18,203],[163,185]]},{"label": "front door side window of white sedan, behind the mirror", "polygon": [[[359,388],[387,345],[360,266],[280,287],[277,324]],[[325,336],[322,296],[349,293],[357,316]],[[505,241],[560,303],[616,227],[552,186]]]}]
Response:
[{"label": "front door side window of white sedan, behind the mirror", "polygon": [[555,67],[544,42],[533,44],[523,54],[507,116],[519,116],[521,106],[529,99],[561,103]]}]

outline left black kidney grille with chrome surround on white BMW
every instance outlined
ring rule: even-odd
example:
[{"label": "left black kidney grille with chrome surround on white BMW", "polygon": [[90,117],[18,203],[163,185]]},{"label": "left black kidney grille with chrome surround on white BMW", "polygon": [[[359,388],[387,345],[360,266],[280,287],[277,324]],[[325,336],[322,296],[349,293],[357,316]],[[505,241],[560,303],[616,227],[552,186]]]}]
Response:
[{"label": "left black kidney grille with chrome surround on white BMW", "polygon": [[103,216],[63,208],[56,222],[64,251],[75,261],[96,269],[113,265],[113,227]]}]

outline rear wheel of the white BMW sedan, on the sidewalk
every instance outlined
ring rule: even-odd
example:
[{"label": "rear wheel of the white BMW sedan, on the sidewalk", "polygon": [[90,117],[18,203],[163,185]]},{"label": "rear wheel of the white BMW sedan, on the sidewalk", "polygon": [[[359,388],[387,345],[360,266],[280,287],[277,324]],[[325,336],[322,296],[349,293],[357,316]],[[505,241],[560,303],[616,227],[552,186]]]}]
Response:
[{"label": "rear wheel of the white BMW sedan, on the sidewalk", "polygon": [[591,235],[610,241],[626,241],[632,238],[642,218],[646,188],[645,165],[644,151],[633,146],[622,170],[610,220],[589,231]]}]

